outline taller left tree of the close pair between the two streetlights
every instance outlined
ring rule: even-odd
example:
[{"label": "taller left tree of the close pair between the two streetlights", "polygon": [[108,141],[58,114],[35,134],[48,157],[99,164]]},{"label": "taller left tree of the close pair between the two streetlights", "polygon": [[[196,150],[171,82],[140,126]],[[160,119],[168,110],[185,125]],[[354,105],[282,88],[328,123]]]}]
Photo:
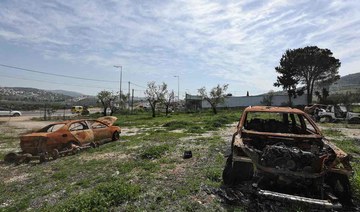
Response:
[{"label": "taller left tree of the close pair between the two streetlights", "polygon": [[148,88],[145,91],[146,100],[149,102],[152,111],[152,117],[155,117],[157,103],[164,102],[167,85],[156,85],[154,81],[148,82]]}]

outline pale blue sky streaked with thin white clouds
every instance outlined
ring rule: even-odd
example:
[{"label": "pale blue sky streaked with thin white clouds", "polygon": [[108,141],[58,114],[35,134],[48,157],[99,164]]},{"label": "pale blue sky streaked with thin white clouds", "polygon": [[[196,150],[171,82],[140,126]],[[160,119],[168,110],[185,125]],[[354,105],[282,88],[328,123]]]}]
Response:
[{"label": "pale blue sky streaked with thin white clouds", "polygon": [[341,76],[359,72],[359,11],[357,0],[0,0],[0,86],[116,92],[117,65],[135,96],[150,81],[180,98],[217,84],[261,94],[279,90],[287,49],[328,48]]}]

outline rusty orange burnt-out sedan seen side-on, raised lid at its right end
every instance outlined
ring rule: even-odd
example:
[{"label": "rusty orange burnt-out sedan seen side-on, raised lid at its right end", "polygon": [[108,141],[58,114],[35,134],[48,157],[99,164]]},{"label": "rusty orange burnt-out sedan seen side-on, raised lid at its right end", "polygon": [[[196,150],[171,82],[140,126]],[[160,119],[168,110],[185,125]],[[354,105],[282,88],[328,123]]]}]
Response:
[{"label": "rusty orange burnt-out sedan seen side-on, raised lid at its right end", "polygon": [[36,132],[22,135],[22,152],[9,153],[4,160],[29,162],[39,159],[42,162],[49,158],[56,159],[65,153],[75,153],[83,148],[119,140],[121,129],[112,125],[116,120],[114,116],[105,116],[96,120],[69,120],[47,125]]}]

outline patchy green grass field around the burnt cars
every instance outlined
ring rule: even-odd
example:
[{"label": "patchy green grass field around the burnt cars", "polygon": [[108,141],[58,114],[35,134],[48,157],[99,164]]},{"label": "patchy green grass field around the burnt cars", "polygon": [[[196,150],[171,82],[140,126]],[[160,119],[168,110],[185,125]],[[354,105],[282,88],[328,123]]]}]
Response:
[{"label": "patchy green grass field around the burnt cars", "polygon": [[[219,188],[234,124],[241,112],[122,115],[120,141],[43,164],[0,164],[0,211],[233,211],[208,192]],[[21,129],[0,134],[0,156],[18,148]],[[354,154],[360,193],[358,141],[326,126],[339,147]],[[5,129],[6,128],[6,129]],[[24,131],[24,129],[22,129]],[[191,150],[193,157],[183,159]]]}]

